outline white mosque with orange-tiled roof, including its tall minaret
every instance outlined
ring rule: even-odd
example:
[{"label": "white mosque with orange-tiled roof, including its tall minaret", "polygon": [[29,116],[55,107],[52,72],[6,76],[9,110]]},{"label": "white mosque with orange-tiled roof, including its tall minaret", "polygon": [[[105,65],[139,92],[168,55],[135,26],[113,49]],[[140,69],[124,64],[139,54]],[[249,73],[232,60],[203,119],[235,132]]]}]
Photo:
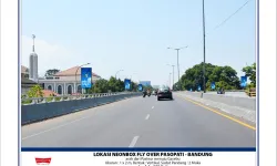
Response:
[{"label": "white mosque with orange-tiled roof, including its tall minaret", "polygon": [[[75,93],[84,93],[85,90],[81,87],[81,68],[73,66],[65,71],[55,73],[54,75],[47,77],[39,77],[38,74],[38,54],[34,52],[34,38],[32,53],[30,54],[30,68],[21,65],[21,87],[22,92],[28,91],[32,85],[40,84],[45,94],[50,95],[54,93],[55,95],[69,95]],[[98,74],[92,72],[92,84],[96,80],[101,79]],[[28,87],[28,89],[27,89]],[[44,92],[44,91],[43,91]]]}]

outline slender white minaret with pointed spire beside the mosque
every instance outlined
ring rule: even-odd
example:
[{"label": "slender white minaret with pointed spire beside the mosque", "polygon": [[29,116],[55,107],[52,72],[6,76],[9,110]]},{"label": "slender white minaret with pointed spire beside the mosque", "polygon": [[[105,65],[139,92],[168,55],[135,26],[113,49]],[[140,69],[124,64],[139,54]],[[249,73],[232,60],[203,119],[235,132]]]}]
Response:
[{"label": "slender white minaret with pointed spire beside the mosque", "polygon": [[30,54],[29,59],[29,70],[30,70],[30,80],[38,81],[38,54],[34,52],[34,38],[35,35],[32,34],[33,39],[33,46],[32,46],[32,53]]}]

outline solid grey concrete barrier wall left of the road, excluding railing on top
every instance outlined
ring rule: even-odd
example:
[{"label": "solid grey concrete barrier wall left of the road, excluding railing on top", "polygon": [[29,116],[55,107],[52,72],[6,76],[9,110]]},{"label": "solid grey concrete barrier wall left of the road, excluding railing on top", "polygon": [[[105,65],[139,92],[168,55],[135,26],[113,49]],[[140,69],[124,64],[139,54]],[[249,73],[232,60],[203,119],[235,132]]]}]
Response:
[{"label": "solid grey concrete barrier wall left of the road, excluding railing on top", "polygon": [[75,98],[49,103],[21,105],[21,125],[53,118],[103,104],[138,96],[141,93],[94,95],[90,98]]}]

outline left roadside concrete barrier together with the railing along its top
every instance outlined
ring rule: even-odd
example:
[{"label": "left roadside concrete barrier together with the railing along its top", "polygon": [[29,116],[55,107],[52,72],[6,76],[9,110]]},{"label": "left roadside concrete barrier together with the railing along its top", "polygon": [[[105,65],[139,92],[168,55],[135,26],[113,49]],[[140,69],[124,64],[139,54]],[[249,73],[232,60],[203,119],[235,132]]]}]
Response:
[{"label": "left roadside concrete barrier together with the railing along its top", "polygon": [[141,92],[64,95],[52,97],[22,98],[31,102],[21,105],[21,125],[62,116],[103,104],[142,95]]}]

